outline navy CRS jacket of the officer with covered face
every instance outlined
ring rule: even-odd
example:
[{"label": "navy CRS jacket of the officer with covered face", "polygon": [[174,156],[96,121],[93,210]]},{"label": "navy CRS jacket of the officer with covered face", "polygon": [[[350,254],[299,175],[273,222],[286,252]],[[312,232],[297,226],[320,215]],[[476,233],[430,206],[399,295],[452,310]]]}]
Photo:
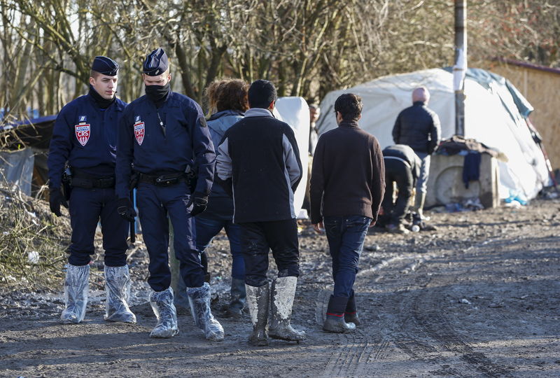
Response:
[{"label": "navy CRS jacket of the officer with covered face", "polygon": [[134,171],[150,175],[198,172],[195,193],[207,196],[214,181],[214,144],[202,109],[184,94],[169,92],[159,109],[146,95],[131,102],[118,127],[116,193],[128,197]]}]

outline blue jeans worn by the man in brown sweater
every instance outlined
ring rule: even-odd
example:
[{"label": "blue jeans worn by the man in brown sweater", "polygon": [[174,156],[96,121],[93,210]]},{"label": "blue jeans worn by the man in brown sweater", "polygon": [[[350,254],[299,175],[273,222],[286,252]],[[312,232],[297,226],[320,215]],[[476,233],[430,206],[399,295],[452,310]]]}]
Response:
[{"label": "blue jeans worn by the man in brown sweater", "polygon": [[335,297],[350,297],[363,241],[372,218],[367,216],[325,216],[323,224],[332,257]]}]

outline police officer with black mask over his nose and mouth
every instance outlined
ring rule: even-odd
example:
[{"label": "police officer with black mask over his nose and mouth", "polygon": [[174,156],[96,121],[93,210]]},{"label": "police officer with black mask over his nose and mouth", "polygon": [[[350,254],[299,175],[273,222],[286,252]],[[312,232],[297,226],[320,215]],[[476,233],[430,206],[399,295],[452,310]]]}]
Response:
[{"label": "police officer with black mask over his nose and mouth", "polygon": [[[210,286],[195,241],[195,218],[208,203],[214,180],[214,146],[200,106],[170,88],[169,62],[162,48],[144,61],[146,95],[134,100],[119,125],[117,184],[118,211],[126,219],[136,214],[129,199],[137,182],[137,205],[144,242],[150,255],[150,302],[158,323],[151,337],[179,332],[169,270],[169,220],[174,249],[195,324],[207,339],[223,339],[223,328],[210,310]],[[191,190],[186,172],[197,172]]]}]

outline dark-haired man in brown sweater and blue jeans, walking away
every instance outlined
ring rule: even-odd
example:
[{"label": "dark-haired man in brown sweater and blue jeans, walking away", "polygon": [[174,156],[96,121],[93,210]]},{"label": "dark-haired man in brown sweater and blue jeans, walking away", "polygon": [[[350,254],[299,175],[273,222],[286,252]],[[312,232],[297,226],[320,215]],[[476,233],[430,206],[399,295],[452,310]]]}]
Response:
[{"label": "dark-haired man in brown sweater and blue jeans, walking away", "polygon": [[359,325],[352,287],[367,228],[377,221],[385,191],[379,142],[358,127],[362,108],[356,94],[338,97],[338,127],[319,138],[311,172],[311,223],[316,232],[326,232],[335,281],[323,324],[328,332],[351,332]]}]

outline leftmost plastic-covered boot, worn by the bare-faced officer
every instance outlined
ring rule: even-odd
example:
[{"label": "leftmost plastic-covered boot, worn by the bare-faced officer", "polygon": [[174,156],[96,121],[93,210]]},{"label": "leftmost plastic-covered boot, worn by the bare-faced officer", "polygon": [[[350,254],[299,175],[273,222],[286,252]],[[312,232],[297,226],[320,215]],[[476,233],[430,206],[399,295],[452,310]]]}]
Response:
[{"label": "leftmost plastic-covered boot, worn by the bare-faced officer", "polygon": [[62,323],[80,323],[85,316],[87,295],[90,290],[90,265],[71,265],[64,279],[65,308],[60,314]]}]

